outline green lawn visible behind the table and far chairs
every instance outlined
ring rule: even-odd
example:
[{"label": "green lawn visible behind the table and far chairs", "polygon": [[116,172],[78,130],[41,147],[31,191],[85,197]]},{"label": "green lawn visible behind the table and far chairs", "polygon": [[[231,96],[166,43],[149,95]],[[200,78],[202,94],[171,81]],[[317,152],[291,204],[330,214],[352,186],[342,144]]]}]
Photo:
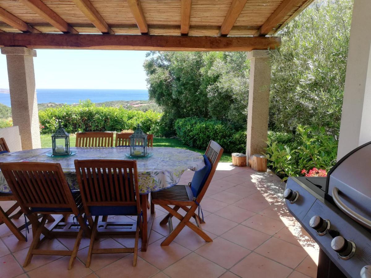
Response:
[{"label": "green lawn visible behind the table and far chairs", "polygon": [[[52,138],[50,135],[40,135],[41,137],[41,147],[42,148],[52,148]],[[70,136],[70,145],[74,147],[76,144],[76,137]],[[178,149],[187,149],[193,150],[201,154],[205,153],[205,150],[196,149],[187,145],[184,145],[179,139],[175,138],[154,138],[153,139],[154,147],[169,147],[169,148],[178,148]],[[230,153],[223,153],[221,156],[220,162],[232,162],[232,156]]]}]

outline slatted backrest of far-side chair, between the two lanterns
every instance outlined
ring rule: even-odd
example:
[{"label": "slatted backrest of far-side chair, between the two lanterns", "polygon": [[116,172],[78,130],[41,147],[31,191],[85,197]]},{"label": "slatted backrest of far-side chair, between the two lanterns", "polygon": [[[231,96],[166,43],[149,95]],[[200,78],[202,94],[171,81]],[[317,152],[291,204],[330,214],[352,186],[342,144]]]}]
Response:
[{"label": "slatted backrest of far-side chair, between the two lanterns", "polygon": [[78,132],[76,133],[76,147],[113,147],[113,132]]}]

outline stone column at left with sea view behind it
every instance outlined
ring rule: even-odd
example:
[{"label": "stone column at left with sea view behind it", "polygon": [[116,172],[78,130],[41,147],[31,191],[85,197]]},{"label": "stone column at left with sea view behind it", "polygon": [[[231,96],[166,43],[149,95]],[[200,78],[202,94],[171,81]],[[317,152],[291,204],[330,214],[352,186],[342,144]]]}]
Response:
[{"label": "stone column at left with sea view behind it", "polygon": [[41,148],[33,68],[36,51],[26,47],[1,47],[1,53],[6,55],[13,125],[19,127],[22,149]]}]

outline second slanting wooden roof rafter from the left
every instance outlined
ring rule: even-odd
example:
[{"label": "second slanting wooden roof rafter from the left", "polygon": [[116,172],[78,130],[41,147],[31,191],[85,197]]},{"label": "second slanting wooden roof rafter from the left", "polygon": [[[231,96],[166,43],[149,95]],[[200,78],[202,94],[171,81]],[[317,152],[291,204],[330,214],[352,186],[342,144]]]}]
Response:
[{"label": "second slanting wooden roof rafter from the left", "polygon": [[60,32],[77,34],[78,32],[73,29],[66,21],[64,21],[58,14],[52,11],[40,0],[19,0],[22,4],[29,7],[47,22],[56,27]]}]

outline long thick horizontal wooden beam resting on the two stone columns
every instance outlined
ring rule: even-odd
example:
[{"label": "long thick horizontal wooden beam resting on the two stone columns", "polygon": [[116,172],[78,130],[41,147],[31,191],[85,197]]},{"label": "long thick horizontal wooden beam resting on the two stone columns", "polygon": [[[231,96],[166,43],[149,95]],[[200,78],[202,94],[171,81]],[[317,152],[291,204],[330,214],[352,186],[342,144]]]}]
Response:
[{"label": "long thick horizontal wooden beam resting on the two stone columns", "polygon": [[280,37],[0,33],[0,46],[33,49],[251,51],[275,49],[280,42]]}]

